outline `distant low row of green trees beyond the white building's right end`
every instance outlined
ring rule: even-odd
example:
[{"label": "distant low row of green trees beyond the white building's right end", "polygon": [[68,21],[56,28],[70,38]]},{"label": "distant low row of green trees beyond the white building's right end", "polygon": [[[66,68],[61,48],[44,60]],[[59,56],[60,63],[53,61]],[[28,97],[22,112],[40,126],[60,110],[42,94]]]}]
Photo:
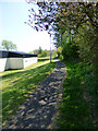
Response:
[{"label": "distant low row of green trees beyond the white building's right end", "polygon": [[[35,49],[30,51],[29,53],[38,55],[38,57],[48,57],[50,56],[50,50],[47,50],[47,49],[44,50],[41,47],[39,47],[39,49]],[[52,49],[51,55],[57,56],[57,50]]]}]

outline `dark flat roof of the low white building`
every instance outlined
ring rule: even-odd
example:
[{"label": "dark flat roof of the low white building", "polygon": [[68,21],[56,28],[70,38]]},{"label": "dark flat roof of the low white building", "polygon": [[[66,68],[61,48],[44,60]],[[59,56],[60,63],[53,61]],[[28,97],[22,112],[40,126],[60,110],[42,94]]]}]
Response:
[{"label": "dark flat roof of the low white building", "polygon": [[29,57],[37,57],[37,55],[21,51],[0,50],[0,58],[29,58]]}]

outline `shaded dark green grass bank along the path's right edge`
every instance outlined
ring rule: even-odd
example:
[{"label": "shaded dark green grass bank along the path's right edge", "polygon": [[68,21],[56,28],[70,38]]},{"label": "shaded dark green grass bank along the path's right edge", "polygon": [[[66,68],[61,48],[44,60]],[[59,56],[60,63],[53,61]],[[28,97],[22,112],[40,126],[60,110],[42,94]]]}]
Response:
[{"label": "shaded dark green grass bank along the path's right edge", "polygon": [[78,62],[64,62],[68,75],[63,84],[63,96],[60,105],[60,129],[95,129],[96,118],[95,96],[96,76],[93,66]]}]

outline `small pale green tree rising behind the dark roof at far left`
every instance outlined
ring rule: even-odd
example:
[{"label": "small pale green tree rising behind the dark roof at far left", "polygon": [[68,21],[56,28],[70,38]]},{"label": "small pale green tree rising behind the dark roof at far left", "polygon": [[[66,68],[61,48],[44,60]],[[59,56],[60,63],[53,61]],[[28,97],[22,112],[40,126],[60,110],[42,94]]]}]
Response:
[{"label": "small pale green tree rising behind the dark roof at far left", "polygon": [[12,44],[12,41],[2,40],[1,46],[3,49],[7,49],[7,50],[16,50],[16,45]]}]

